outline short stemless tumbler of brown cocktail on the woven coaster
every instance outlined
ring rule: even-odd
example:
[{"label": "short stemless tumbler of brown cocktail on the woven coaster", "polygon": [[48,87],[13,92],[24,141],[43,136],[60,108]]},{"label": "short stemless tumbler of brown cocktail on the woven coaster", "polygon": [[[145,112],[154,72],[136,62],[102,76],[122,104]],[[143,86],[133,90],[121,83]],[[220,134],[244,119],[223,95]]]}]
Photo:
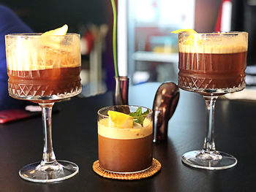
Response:
[{"label": "short stemless tumbler of brown cocktail on the woven coaster", "polygon": [[[141,107],[142,112],[149,111],[143,124],[128,121],[116,125],[108,111],[123,112],[129,115],[136,112],[138,106],[116,105],[98,111],[99,166],[109,172],[143,172],[152,166],[153,123],[152,110]],[[133,121],[133,120],[132,120]]]}]

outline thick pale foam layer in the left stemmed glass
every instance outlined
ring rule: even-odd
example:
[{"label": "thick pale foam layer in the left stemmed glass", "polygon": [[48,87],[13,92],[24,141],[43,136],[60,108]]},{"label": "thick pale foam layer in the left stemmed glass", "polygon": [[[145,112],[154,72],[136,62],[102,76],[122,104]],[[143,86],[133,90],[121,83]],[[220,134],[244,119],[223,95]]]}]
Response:
[{"label": "thick pale foam layer in the left stemmed glass", "polygon": [[80,66],[79,36],[56,38],[58,41],[54,42],[40,36],[7,37],[7,69],[31,71]]}]

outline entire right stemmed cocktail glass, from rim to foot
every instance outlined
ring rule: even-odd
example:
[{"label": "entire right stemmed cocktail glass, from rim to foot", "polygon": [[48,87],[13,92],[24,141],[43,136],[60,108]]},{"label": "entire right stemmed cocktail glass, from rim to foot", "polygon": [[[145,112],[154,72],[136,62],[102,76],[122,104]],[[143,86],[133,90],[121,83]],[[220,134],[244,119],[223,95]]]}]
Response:
[{"label": "entire right stemmed cocktail glass, from rim to foot", "polygon": [[206,100],[207,125],[203,150],[185,153],[182,161],[202,169],[227,169],[237,164],[233,155],[216,150],[214,105],[218,96],[245,88],[248,34],[227,32],[178,34],[178,87],[200,93]]}]

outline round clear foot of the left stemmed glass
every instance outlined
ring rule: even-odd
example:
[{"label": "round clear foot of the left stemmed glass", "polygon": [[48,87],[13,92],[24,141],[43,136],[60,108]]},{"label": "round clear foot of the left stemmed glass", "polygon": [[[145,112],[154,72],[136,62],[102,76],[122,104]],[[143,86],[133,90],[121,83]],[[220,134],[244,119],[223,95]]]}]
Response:
[{"label": "round clear foot of the left stemmed glass", "polygon": [[40,162],[23,166],[20,177],[37,183],[53,183],[67,180],[78,173],[78,166],[69,161],[56,161],[53,164],[40,164]]}]

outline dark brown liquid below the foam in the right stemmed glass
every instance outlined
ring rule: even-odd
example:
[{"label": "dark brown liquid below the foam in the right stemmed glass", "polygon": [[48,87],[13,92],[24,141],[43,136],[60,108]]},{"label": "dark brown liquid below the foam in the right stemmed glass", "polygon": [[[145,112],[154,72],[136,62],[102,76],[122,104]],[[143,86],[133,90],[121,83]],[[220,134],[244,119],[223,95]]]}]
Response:
[{"label": "dark brown liquid below the foam in the right stemmed glass", "polygon": [[247,52],[179,53],[178,86],[187,91],[232,92],[245,86]]}]

